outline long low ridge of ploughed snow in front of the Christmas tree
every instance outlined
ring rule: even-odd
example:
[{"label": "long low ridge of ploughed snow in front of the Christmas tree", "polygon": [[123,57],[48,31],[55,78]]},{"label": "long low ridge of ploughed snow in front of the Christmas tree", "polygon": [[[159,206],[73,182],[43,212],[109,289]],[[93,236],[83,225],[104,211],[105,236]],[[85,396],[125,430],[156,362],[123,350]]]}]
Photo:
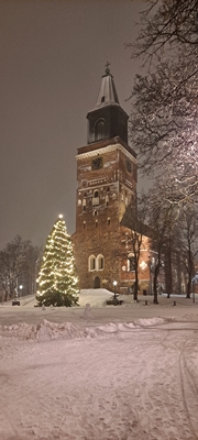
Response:
[{"label": "long low ridge of ploughed snow in front of the Christmas tree", "polygon": [[92,339],[107,338],[118,333],[129,332],[138,327],[148,327],[164,323],[167,318],[139,319],[135,322],[110,322],[99,327],[80,328],[72,322],[55,323],[43,319],[37,326],[21,322],[13,326],[0,326],[1,337],[11,337],[22,340],[56,340],[56,339]]}]

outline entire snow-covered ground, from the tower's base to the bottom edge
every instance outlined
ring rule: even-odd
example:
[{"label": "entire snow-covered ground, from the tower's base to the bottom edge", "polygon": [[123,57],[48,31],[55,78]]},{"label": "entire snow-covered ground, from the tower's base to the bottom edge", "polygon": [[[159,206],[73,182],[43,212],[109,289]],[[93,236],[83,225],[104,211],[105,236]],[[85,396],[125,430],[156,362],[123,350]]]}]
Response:
[{"label": "entire snow-covered ground, from the tower's base to the bottom edge", "polygon": [[106,295],[0,306],[1,440],[198,439],[198,298]]}]

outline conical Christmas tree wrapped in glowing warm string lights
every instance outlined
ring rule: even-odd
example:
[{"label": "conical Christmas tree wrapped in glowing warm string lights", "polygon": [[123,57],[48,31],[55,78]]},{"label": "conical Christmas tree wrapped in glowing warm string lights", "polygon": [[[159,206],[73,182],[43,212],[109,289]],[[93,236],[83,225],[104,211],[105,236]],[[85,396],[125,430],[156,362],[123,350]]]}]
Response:
[{"label": "conical Christmas tree wrapped in glowing warm string lights", "polygon": [[47,238],[37,283],[37,306],[70,307],[78,304],[73,243],[63,216],[58,217]]}]

